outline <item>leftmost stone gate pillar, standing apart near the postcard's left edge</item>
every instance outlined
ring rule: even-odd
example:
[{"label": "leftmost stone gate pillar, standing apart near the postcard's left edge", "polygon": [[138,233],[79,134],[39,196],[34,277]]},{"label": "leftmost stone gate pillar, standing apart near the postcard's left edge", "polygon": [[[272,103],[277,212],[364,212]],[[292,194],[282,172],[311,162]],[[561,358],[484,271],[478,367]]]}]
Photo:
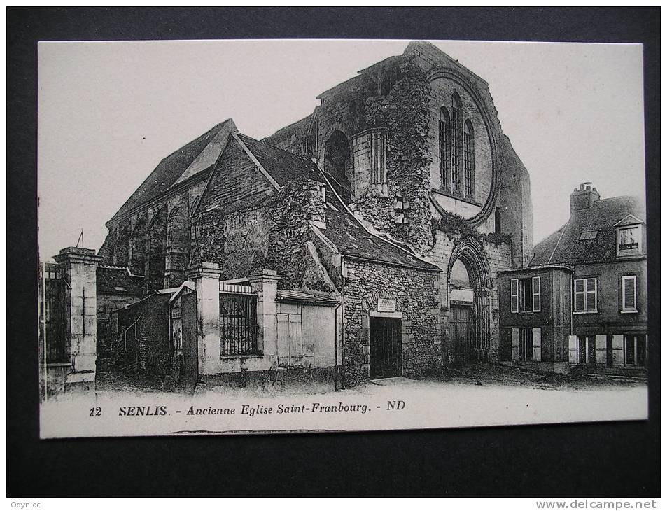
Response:
[{"label": "leftmost stone gate pillar, standing apart near the postcard's left edge", "polygon": [[63,248],[54,259],[64,279],[64,333],[71,368],[64,374],[64,391],[94,390],[97,362],[97,265],[92,248]]}]

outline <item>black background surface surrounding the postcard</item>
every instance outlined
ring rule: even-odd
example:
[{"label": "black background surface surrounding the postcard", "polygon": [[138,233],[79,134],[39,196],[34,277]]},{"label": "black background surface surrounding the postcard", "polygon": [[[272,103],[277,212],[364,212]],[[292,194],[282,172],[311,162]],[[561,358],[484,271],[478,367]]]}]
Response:
[{"label": "black background surface surrounding the postcard", "polygon": [[[8,8],[8,496],[658,496],[659,15],[659,8]],[[194,38],[644,43],[650,420],[38,440],[36,41]]]}]

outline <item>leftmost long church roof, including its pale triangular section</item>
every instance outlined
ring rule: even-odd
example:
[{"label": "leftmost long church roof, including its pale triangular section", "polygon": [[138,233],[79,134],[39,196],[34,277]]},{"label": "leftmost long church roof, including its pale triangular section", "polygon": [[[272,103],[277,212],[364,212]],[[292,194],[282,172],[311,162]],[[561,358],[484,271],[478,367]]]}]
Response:
[{"label": "leftmost long church roof, including its pale triangular section", "polygon": [[120,207],[111,222],[160,197],[186,179],[209,172],[224,150],[229,134],[235,130],[234,121],[227,119],[164,158]]}]

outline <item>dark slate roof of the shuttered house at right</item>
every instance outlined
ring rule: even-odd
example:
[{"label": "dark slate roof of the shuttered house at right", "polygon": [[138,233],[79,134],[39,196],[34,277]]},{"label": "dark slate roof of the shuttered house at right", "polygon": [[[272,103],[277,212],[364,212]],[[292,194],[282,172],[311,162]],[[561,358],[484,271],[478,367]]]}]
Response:
[{"label": "dark slate roof of the shuttered house at right", "polygon": [[[643,221],[645,209],[637,197],[627,195],[598,200],[589,209],[574,211],[566,225],[535,246],[529,266],[615,260],[615,224],[630,214]],[[579,239],[582,231],[594,230],[598,231],[594,239]]]}]

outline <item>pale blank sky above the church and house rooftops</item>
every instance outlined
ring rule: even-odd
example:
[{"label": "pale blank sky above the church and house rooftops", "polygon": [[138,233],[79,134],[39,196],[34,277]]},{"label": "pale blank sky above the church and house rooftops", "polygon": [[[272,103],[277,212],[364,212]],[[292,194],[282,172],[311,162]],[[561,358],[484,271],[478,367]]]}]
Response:
[{"label": "pale blank sky above the church and house rooftops", "polygon": [[[535,244],[570,192],[645,196],[641,45],[431,41],[489,83],[531,174]],[[48,259],[99,249],[113,214],[158,162],[227,118],[255,138],[408,41],[39,43],[38,241]]]}]

